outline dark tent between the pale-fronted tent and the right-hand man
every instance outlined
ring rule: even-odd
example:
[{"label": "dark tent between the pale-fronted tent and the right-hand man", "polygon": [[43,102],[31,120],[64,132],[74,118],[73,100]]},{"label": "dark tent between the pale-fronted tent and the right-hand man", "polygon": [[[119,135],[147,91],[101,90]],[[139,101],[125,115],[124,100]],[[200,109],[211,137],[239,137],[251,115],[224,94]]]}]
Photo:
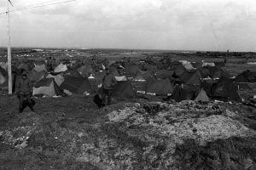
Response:
[{"label": "dark tent between the pale-fronted tent and the right-hand man", "polygon": [[90,82],[88,78],[84,77],[70,77],[65,76],[64,82],[61,83],[62,90],[66,89],[74,94],[84,94],[84,92],[90,92]]}]

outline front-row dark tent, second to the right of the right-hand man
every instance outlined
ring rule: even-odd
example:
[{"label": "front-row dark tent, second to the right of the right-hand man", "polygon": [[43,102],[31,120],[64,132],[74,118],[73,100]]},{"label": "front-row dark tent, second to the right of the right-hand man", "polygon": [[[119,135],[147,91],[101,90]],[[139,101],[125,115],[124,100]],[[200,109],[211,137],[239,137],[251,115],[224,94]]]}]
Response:
[{"label": "front-row dark tent, second to the right of the right-hand man", "polygon": [[146,84],[146,93],[156,95],[172,94],[173,87],[169,79],[165,80],[151,80]]}]

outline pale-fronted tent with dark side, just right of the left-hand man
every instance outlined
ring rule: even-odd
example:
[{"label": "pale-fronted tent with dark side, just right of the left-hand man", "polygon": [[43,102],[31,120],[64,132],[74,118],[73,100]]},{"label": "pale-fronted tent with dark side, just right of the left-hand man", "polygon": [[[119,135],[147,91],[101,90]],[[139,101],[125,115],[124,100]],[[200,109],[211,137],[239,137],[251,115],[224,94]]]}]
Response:
[{"label": "pale-fronted tent with dark side, just right of the left-hand man", "polygon": [[36,82],[33,87],[33,95],[42,94],[44,96],[53,97],[62,94],[60,88],[55,83],[54,78],[42,78]]}]

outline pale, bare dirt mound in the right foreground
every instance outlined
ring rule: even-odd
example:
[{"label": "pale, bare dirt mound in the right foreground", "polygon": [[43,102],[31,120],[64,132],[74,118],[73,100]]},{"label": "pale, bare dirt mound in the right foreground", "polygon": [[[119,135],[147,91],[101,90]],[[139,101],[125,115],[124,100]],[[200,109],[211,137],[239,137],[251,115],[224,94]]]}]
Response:
[{"label": "pale, bare dirt mound in the right foreground", "polygon": [[85,144],[77,160],[101,169],[182,168],[177,147],[189,140],[204,149],[216,140],[255,135],[253,129],[233,120],[234,114],[216,103],[193,101],[129,105],[108,114],[109,122],[102,126],[104,138]]}]

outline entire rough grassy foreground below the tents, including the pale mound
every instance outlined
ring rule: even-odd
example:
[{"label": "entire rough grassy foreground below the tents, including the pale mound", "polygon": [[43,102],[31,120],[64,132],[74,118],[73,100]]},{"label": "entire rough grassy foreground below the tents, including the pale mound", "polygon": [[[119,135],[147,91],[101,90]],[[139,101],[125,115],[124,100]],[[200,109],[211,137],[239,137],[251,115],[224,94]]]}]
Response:
[{"label": "entire rough grassy foreground below the tents, including the pale mound", "polygon": [[[0,169],[255,169],[253,107],[157,98],[0,97]],[[153,101],[156,100],[156,101]],[[119,101],[119,102],[118,102]]]}]

